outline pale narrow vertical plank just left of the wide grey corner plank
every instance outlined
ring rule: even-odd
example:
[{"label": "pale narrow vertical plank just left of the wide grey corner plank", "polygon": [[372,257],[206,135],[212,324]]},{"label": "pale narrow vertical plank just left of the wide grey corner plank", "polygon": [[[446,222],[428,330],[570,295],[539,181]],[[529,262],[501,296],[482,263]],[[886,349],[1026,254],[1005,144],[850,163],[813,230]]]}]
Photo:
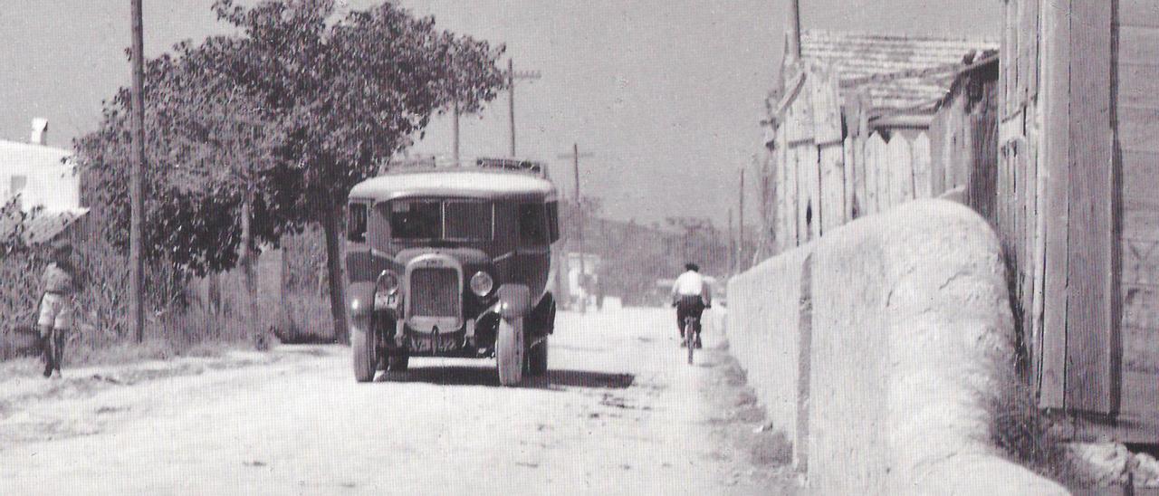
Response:
[{"label": "pale narrow vertical plank just left of the wide grey corner plank", "polygon": [[1070,205],[1070,78],[1071,0],[1042,3],[1042,96],[1043,154],[1045,178],[1045,272],[1043,273],[1042,369],[1038,372],[1038,406],[1065,407],[1066,377],[1066,285]]}]

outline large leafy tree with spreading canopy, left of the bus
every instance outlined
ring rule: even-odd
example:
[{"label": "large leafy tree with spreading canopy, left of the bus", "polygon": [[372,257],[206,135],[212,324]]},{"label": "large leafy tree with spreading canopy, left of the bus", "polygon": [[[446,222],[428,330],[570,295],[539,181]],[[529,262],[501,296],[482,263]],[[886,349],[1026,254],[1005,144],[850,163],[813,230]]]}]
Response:
[{"label": "large leafy tree with spreading canopy, left of the bus", "polygon": [[[503,48],[439,31],[433,17],[392,2],[337,22],[328,22],[331,0],[217,0],[213,8],[238,35],[178,44],[147,67],[150,247],[196,270],[221,270],[236,263],[239,245],[246,253],[255,238],[276,242],[316,221],[335,335],[344,342],[340,232],[348,191],[452,102],[473,112],[495,99]],[[231,103],[214,104],[221,101]],[[101,130],[79,146],[109,180],[117,224],[127,221],[115,181],[127,170],[127,155],[118,153],[127,145],[126,103],[122,90],[105,105]],[[220,214],[245,205],[243,221]]]}]

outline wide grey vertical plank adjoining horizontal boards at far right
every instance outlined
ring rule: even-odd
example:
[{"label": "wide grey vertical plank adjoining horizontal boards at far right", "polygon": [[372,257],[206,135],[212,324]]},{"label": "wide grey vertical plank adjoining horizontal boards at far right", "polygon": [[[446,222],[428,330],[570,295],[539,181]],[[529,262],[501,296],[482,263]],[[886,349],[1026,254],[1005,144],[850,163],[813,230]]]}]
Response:
[{"label": "wide grey vertical plank adjoining horizontal boards at far right", "polygon": [[[1071,3],[1071,204],[1066,306],[1066,403],[1072,410],[1118,409],[1118,319],[1114,311],[1114,167],[1111,167],[1109,2]],[[1073,29],[1081,25],[1081,29]],[[1159,45],[1159,43],[1157,43]]]}]

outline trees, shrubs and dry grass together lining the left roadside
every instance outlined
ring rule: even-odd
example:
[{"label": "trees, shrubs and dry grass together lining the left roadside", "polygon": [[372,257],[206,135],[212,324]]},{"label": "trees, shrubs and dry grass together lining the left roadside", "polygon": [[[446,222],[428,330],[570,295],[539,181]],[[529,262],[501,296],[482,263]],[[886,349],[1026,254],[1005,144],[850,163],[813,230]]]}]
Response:
[{"label": "trees, shrubs and dry grass together lining the left roadside", "polygon": [[[342,17],[331,0],[212,8],[234,34],[146,60],[144,343],[132,342],[127,316],[129,89],[105,101],[97,129],[74,143],[92,210],[63,234],[85,286],[70,363],[204,343],[261,348],[271,330],[344,342],[347,191],[409,147],[433,115],[455,103],[475,112],[503,87],[503,46],[439,30],[393,2]],[[23,242],[29,214],[9,206],[5,216],[16,226],[0,232],[7,336],[35,324],[46,253]],[[284,250],[289,270],[260,268],[263,249],[284,246],[297,248]],[[258,294],[262,271],[276,269],[289,280]],[[283,297],[287,316],[276,312]]]}]

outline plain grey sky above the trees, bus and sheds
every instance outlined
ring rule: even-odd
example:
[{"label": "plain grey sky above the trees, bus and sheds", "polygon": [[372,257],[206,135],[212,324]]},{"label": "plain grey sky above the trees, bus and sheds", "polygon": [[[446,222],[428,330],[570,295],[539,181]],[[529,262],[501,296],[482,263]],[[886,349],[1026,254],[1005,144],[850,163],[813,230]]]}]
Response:
[{"label": "plain grey sky above the trees, bus and sheds", "polygon": [[[379,0],[348,0],[364,8]],[[516,70],[517,154],[546,161],[573,194],[641,223],[707,217],[723,226],[749,168],[746,223],[764,97],[782,52],[788,0],[399,0],[439,27],[506,44]],[[145,0],[145,51],[226,32],[212,0]],[[809,29],[997,37],[997,0],[803,0]],[[51,145],[96,127],[101,103],[129,83],[129,0],[5,0],[0,9],[0,139],[27,140],[34,117]],[[505,60],[504,60],[505,64]],[[461,119],[464,156],[505,156],[508,95]],[[418,138],[418,137],[416,137]],[[415,153],[451,153],[449,117]]]}]

